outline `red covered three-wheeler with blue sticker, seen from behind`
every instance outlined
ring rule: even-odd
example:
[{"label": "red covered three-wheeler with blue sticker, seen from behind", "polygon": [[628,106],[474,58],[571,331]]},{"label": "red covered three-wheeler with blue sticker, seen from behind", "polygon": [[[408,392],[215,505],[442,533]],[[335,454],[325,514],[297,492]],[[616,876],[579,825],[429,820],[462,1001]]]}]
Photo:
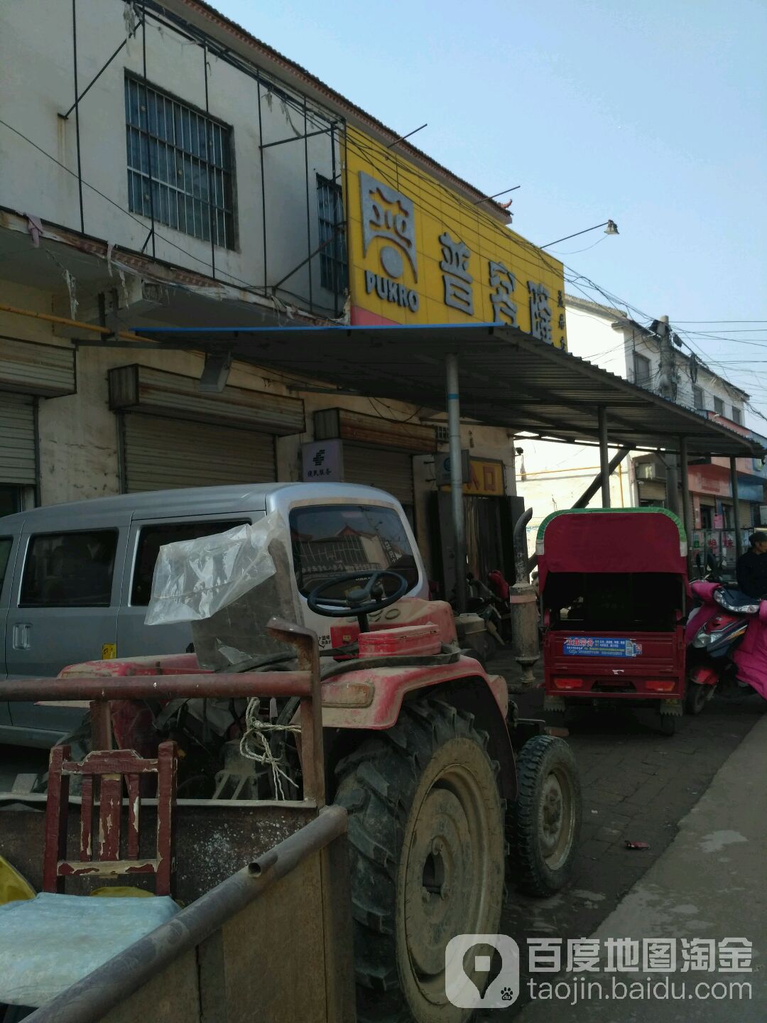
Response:
[{"label": "red covered three-wheeler with blue sticker, seen from behind", "polygon": [[673,735],[685,698],[687,538],[665,508],[555,511],[537,538],[545,708],[630,701]]}]

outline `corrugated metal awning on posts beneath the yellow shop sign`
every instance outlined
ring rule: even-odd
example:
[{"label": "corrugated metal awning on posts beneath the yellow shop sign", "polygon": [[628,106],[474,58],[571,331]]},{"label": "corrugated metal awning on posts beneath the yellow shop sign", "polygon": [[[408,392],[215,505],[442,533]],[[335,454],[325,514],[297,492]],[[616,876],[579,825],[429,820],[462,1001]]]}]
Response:
[{"label": "corrugated metal awning on posts beneath the yellow shop sign", "polygon": [[145,337],[205,350],[231,339],[238,359],[381,398],[445,407],[445,356],[457,353],[461,415],[556,441],[598,439],[690,455],[759,455],[762,446],[692,409],[510,326],[136,327]]}]

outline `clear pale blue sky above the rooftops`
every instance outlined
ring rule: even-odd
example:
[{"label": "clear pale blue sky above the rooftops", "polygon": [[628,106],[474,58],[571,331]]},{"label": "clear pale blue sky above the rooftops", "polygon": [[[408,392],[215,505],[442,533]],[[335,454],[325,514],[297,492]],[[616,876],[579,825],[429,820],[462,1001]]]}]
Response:
[{"label": "clear pale blue sky above the rooftops", "polygon": [[394,131],[427,122],[413,143],[485,193],[521,185],[536,244],[615,220],[548,251],[767,416],[765,0],[214,4]]}]

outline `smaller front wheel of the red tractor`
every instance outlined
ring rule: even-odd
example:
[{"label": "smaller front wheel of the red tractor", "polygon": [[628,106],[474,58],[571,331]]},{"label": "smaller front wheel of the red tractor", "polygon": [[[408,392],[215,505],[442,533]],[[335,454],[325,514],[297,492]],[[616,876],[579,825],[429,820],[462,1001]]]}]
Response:
[{"label": "smaller front wheel of the red tractor", "polygon": [[552,895],[573,873],[581,829],[581,783],[567,743],[535,736],[516,761],[517,796],[509,809],[511,881],[531,895]]}]

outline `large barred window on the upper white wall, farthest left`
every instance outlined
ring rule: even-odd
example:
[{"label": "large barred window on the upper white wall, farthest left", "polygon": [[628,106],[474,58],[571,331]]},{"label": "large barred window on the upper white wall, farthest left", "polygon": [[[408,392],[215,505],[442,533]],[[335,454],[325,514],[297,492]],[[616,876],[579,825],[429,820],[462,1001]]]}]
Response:
[{"label": "large barred window on the upper white wall, farthest left", "polygon": [[125,120],[131,213],[233,249],[230,130],[133,78]]}]

